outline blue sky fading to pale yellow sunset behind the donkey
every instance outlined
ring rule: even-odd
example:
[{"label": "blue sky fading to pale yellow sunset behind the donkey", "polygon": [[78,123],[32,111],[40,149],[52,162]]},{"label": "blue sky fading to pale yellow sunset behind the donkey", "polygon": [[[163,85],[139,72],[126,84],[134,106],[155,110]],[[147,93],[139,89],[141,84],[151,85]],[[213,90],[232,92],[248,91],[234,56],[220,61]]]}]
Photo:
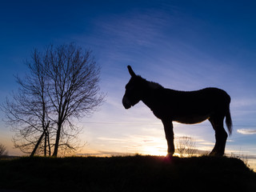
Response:
[{"label": "blue sky fading to pale yellow sunset behind the donkey", "polygon": [[[14,75],[34,48],[75,42],[93,50],[102,67],[106,102],[82,127],[80,154],[166,154],[162,123],[142,102],[122,106],[127,65],[149,81],[174,90],[214,86],[231,97],[233,134],[227,154],[256,157],[256,2],[254,1],[1,1],[0,102],[18,89]],[[18,155],[14,133],[0,112],[0,142]],[[174,122],[175,137],[190,136],[212,150],[210,122]],[[256,164],[255,164],[256,165]]]}]

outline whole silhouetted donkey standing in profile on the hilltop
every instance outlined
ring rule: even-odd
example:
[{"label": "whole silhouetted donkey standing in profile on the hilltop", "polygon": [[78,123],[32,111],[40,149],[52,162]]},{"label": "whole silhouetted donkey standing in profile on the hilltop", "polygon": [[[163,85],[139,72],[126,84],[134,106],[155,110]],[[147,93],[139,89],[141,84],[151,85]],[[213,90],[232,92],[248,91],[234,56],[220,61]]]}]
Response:
[{"label": "whole silhouetted donkey standing in profile on the hilltop", "polygon": [[224,118],[229,134],[232,133],[230,95],[226,91],[212,87],[195,91],[170,90],[136,75],[131,66],[127,68],[131,78],[126,84],[122,105],[127,110],[142,101],[162,120],[168,145],[167,156],[174,154],[173,121],[194,124],[206,119],[213,126],[216,139],[210,155],[224,154],[228,137],[223,126]]}]

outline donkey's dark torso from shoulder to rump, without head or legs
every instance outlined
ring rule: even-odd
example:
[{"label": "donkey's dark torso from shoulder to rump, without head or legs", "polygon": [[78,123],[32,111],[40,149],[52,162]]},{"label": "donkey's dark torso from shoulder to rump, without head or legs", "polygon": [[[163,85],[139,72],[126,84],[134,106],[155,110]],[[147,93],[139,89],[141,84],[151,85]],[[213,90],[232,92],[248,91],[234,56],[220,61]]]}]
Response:
[{"label": "donkey's dark torso from shoulder to rump, without head or legs", "polygon": [[182,123],[198,123],[214,116],[226,114],[230,96],[218,88],[180,91],[163,88],[155,94],[158,100],[151,109],[158,118],[170,118]]}]

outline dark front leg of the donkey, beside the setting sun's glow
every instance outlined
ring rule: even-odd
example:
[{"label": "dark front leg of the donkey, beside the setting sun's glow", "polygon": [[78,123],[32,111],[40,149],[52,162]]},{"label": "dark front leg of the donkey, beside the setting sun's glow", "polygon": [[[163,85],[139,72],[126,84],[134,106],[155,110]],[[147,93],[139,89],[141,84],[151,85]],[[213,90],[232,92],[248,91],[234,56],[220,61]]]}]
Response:
[{"label": "dark front leg of the donkey, beside the setting sun's glow", "polygon": [[174,126],[173,122],[170,120],[164,120],[162,119],[162,124],[165,129],[166,133],[166,140],[167,140],[167,145],[168,145],[168,154],[167,156],[172,157],[174,154]]}]

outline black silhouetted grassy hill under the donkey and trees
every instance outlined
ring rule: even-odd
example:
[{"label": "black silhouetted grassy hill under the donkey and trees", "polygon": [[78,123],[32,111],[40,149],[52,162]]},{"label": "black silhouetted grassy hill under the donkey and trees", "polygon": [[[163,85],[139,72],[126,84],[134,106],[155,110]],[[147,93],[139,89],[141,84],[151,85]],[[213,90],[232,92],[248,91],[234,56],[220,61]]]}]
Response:
[{"label": "black silhouetted grassy hill under the donkey and trees", "polygon": [[238,158],[155,156],[0,160],[0,191],[256,191]]}]

